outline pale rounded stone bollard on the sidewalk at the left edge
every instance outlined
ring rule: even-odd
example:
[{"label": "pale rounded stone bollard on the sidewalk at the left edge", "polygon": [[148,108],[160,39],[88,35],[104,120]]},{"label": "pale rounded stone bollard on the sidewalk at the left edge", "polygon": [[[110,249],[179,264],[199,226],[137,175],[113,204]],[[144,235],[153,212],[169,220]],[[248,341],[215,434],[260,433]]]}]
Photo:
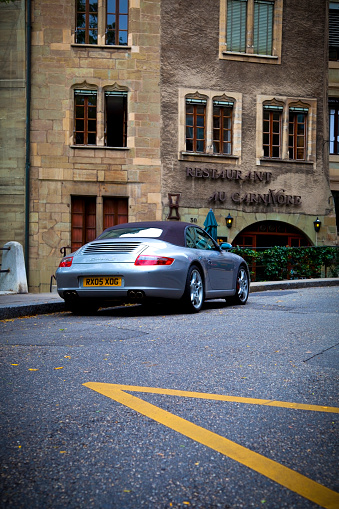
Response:
[{"label": "pale rounded stone bollard on the sidewalk at the left edge", "polygon": [[4,249],[2,251],[1,271],[6,272],[0,273],[0,291],[28,293],[22,245],[19,242],[7,242]]}]

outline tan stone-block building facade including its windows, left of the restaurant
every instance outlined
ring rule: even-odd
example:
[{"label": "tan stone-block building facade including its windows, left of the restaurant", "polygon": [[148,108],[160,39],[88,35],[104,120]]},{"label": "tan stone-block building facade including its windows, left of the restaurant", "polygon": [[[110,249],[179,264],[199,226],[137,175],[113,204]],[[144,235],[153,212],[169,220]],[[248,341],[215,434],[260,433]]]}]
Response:
[{"label": "tan stone-block building facade including its windows, left of the restaurant", "polygon": [[159,79],[160,0],[34,0],[32,291],[49,287],[60,248],[161,219]]}]

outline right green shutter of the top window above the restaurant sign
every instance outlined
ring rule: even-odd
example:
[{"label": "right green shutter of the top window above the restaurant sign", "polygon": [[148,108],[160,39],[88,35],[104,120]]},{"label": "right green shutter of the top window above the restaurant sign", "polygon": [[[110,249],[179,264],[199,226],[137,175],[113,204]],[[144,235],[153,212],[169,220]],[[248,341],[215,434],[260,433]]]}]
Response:
[{"label": "right green shutter of the top window above the restaurant sign", "polygon": [[272,55],[273,9],[274,2],[254,2],[253,42],[257,55]]}]

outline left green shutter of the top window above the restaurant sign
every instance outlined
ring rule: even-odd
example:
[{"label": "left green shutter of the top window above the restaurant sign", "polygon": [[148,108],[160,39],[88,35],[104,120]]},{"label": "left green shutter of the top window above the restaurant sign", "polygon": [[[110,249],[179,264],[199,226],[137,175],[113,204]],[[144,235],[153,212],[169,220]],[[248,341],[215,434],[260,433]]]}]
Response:
[{"label": "left green shutter of the top window above the restaurant sign", "polygon": [[247,0],[228,0],[227,51],[246,52]]}]

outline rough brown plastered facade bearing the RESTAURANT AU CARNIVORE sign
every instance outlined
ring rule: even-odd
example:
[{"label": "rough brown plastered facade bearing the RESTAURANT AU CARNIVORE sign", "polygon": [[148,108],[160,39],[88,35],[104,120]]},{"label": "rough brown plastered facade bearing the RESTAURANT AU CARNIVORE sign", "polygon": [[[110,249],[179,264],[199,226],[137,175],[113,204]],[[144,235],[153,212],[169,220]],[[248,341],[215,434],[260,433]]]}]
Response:
[{"label": "rough brown plastered facade bearing the RESTAURANT AU CARNIVORE sign", "polygon": [[326,2],[161,5],[164,211],[173,195],[202,226],[212,208],[236,245],[335,244]]}]

